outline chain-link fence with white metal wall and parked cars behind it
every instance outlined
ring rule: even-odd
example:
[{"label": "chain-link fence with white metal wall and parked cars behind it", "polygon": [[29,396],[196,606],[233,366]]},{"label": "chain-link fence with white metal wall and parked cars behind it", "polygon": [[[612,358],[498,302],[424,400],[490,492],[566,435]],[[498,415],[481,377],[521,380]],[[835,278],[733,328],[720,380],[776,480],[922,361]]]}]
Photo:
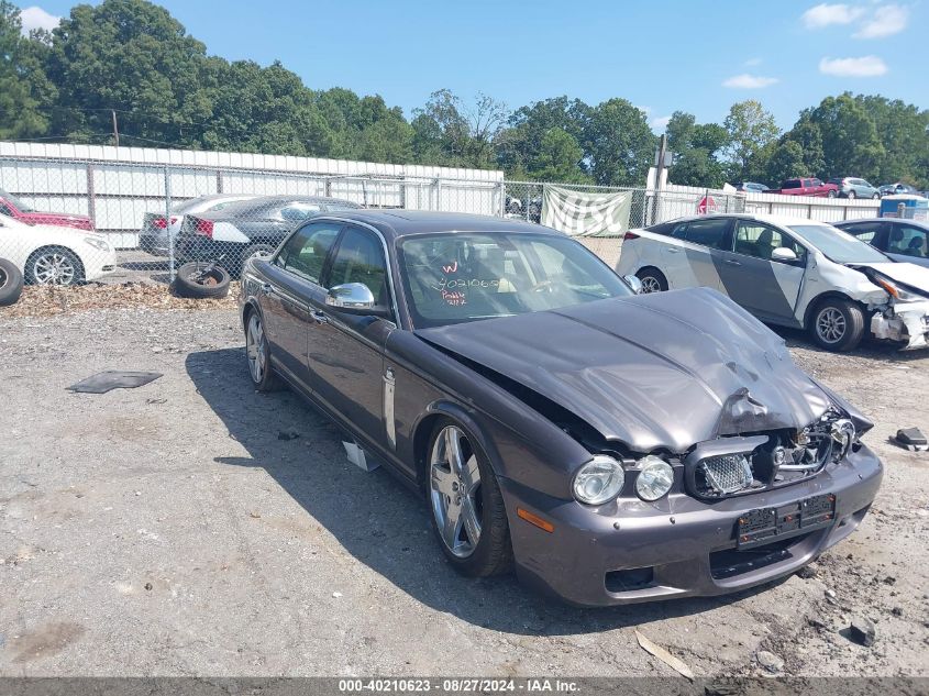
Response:
[{"label": "chain-link fence with white metal wall and parked cars behind it", "polygon": [[[674,186],[654,191],[499,178],[0,157],[0,258],[19,266],[26,284],[170,283],[190,262],[217,262],[235,278],[248,256],[273,252],[295,227],[320,212],[434,210],[538,223],[550,186],[629,194],[624,229],[699,212],[745,211],[743,195]],[[580,241],[615,265],[620,237]]]}]

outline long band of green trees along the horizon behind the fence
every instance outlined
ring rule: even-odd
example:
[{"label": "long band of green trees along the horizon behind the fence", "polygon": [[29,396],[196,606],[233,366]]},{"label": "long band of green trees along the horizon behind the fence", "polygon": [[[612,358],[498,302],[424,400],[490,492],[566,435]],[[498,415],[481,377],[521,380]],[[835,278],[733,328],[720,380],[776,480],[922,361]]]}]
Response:
[{"label": "long band of green trees along the horizon behind the fence", "polygon": [[[109,144],[113,111],[131,145],[499,167],[566,183],[641,186],[656,148],[626,99],[562,96],[509,112],[486,95],[440,89],[407,119],[377,95],[313,91],[280,63],[209,56],[147,0],[78,4],[52,33],[29,36],[0,0],[0,139]],[[675,184],[811,175],[929,187],[929,111],[881,96],[827,97],[785,133],[753,100],[722,123],[677,111],[666,134]]]}]

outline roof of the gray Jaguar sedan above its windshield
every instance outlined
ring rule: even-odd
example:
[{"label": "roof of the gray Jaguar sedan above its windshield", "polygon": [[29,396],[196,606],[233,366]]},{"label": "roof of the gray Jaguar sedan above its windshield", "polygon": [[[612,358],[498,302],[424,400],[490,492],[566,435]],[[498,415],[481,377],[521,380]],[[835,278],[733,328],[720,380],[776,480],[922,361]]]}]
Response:
[{"label": "roof of the gray Jaguar sedan above its windshield", "polygon": [[432,210],[340,210],[322,217],[351,220],[377,228],[385,237],[396,239],[411,234],[442,234],[453,232],[553,234],[562,232],[541,224],[463,212],[435,212]]}]

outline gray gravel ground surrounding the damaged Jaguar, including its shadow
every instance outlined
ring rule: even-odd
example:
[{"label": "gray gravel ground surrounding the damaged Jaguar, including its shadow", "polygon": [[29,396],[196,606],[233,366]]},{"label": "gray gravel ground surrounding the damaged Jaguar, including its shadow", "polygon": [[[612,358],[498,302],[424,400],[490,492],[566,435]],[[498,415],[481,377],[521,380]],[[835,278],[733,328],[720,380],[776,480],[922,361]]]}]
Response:
[{"label": "gray gravel ground surrounding the damaged Jaguar, including its shadow", "polygon": [[[638,629],[698,676],[929,675],[929,454],[888,440],[929,431],[929,354],[786,338],[877,423],[862,527],[803,577],[578,610],[456,575],[418,496],[349,464],[298,397],[251,388],[232,310],[0,310],[0,674],[673,675]],[[112,368],[164,377],[65,390]]]}]

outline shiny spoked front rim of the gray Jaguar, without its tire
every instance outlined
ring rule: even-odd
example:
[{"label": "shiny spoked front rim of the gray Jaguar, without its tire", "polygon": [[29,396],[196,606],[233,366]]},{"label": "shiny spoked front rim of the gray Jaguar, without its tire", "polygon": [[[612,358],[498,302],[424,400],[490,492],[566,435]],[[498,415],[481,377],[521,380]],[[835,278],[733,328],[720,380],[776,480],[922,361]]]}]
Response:
[{"label": "shiny spoked front rim of the gray Jaguar, without its tire", "polygon": [[466,559],[480,541],[480,469],[461,428],[442,429],[432,445],[429,469],[439,533],[449,551]]}]

